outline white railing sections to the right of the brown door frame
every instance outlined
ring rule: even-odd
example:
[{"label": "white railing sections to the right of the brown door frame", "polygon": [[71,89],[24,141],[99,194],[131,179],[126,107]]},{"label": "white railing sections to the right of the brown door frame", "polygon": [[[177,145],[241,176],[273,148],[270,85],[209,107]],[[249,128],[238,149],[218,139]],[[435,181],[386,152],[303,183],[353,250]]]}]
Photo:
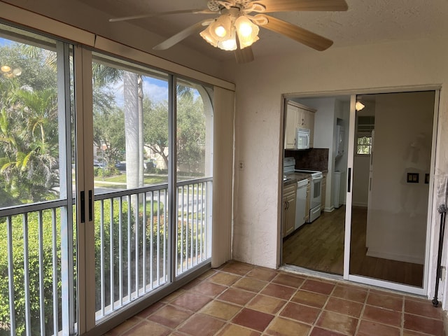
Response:
[{"label": "white railing sections to the right of the brown door frame", "polygon": [[167,185],[95,196],[97,321],[211,256],[211,179],[177,183],[175,248]]}]

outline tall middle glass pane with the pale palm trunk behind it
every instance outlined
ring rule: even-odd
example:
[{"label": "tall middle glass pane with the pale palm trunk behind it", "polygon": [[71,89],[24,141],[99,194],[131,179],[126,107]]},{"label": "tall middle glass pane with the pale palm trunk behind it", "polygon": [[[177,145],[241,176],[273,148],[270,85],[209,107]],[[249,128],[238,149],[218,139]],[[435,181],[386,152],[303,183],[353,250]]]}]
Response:
[{"label": "tall middle glass pane with the pale palm trunk behind it", "polygon": [[169,78],[99,54],[92,73],[99,321],[169,281]]}]

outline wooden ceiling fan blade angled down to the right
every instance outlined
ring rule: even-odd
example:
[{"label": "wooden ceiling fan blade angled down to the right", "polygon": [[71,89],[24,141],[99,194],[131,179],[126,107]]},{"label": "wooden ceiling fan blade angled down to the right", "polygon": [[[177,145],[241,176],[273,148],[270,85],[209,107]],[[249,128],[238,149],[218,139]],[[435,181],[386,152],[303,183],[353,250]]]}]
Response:
[{"label": "wooden ceiling fan blade angled down to the right", "polygon": [[289,38],[293,38],[293,40],[303,43],[304,45],[308,45],[313,49],[323,51],[330,48],[333,44],[333,41],[328,38],[314,34],[307,29],[297,27],[289,22],[262,14],[255,15],[255,18],[258,16],[265,17],[268,21],[265,25],[260,25],[260,27],[275,31],[276,33],[288,36]]}]

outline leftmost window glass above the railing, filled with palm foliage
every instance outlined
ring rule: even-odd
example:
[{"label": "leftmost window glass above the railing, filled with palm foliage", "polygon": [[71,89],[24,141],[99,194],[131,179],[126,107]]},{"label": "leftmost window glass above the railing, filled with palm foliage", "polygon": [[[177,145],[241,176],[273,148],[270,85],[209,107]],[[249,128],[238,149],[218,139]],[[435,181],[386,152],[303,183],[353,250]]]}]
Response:
[{"label": "leftmost window glass above the railing, filled with palm foliage", "polygon": [[[57,200],[55,42],[26,44],[0,29],[0,208]],[[44,41],[42,41],[44,42]]]}]

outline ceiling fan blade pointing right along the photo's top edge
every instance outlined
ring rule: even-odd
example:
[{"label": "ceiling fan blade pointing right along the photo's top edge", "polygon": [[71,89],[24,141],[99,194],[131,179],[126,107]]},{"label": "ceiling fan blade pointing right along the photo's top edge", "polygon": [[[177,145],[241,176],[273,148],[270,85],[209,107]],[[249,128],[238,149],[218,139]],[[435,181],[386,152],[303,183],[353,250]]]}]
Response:
[{"label": "ceiling fan blade pointing right along the photo's top edge", "polygon": [[252,3],[258,3],[266,8],[260,13],[292,12],[295,10],[344,11],[349,9],[345,0],[255,0],[249,3],[248,7]]}]

